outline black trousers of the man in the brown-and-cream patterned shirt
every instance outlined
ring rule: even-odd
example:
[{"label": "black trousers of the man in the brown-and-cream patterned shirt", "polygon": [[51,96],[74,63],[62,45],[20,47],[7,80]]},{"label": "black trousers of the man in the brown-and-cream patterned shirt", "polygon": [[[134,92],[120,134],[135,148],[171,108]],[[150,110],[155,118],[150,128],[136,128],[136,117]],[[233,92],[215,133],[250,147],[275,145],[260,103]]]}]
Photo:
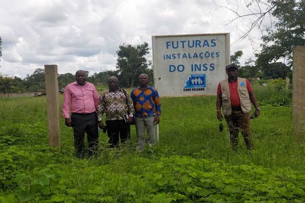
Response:
[{"label": "black trousers of the man in the brown-and-cream patterned shirt", "polygon": [[130,139],[130,124],[125,120],[106,120],[110,147],[118,147],[119,138],[124,144]]}]

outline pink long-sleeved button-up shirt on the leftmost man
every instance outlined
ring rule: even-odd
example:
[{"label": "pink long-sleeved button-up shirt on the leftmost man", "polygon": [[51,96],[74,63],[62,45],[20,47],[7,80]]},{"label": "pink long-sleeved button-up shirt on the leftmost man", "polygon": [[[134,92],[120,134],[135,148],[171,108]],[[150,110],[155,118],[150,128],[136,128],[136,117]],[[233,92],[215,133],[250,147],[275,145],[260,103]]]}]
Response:
[{"label": "pink long-sleeved button-up shirt on the leftmost man", "polygon": [[[70,113],[89,114],[98,109],[99,95],[92,83],[86,82],[84,86],[77,82],[70,83],[65,88],[63,117],[70,118]],[[71,105],[71,109],[70,109]]]}]

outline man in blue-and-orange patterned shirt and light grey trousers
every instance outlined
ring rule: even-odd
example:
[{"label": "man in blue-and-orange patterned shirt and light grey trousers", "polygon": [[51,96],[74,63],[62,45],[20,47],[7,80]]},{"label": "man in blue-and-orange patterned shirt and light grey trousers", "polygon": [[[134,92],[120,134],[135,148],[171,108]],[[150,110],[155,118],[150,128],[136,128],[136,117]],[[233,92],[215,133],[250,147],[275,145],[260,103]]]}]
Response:
[{"label": "man in blue-and-orange patterned shirt and light grey trousers", "polygon": [[131,98],[135,107],[135,124],[137,131],[137,150],[142,151],[145,147],[145,127],[148,134],[149,146],[157,143],[155,125],[160,122],[161,101],[158,91],[148,85],[149,79],[146,74],[139,76],[140,86],[131,91]]}]

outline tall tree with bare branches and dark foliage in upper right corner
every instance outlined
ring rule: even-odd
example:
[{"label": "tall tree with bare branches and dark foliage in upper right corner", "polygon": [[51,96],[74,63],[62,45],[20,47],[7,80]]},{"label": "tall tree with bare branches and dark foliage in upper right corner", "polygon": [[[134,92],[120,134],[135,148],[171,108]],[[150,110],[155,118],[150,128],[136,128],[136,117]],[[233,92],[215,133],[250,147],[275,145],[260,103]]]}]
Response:
[{"label": "tall tree with bare branches and dark foliage in upper right corner", "polygon": [[[261,51],[256,53],[257,66],[283,59],[291,65],[293,46],[305,45],[305,1],[303,0],[236,0],[225,7],[235,14],[229,22],[241,22],[246,31],[238,29],[245,39],[255,28],[262,31]],[[243,3],[243,6],[240,4]],[[234,9],[230,7],[233,6]],[[269,19],[267,25],[266,19]]]}]

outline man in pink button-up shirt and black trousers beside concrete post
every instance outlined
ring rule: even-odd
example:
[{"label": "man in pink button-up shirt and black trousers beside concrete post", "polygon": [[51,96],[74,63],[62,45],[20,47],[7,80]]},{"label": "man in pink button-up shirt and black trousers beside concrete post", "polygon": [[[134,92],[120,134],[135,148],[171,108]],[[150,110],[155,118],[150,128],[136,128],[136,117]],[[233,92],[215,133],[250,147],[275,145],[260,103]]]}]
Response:
[{"label": "man in pink button-up shirt and black trousers beside concrete post", "polygon": [[73,127],[77,157],[83,158],[85,156],[85,132],[88,140],[88,155],[92,156],[98,148],[99,132],[96,110],[99,95],[95,86],[86,82],[85,71],[77,71],[75,79],[76,82],[70,83],[65,88],[62,109],[65,124]]}]

